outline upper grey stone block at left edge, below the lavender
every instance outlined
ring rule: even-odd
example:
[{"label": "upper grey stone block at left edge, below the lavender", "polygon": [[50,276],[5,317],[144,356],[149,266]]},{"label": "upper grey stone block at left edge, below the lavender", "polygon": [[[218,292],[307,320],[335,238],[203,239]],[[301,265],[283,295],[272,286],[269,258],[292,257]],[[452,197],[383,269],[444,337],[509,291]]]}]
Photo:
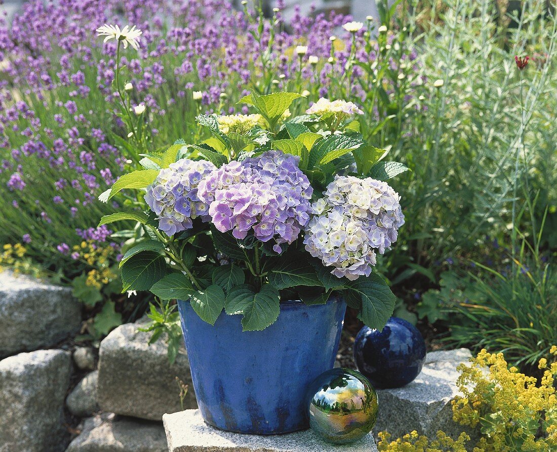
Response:
[{"label": "upper grey stone block at left edge, below the lavender", "polygon": [[0,358],[55,346],[80,324],[81,304],[70,288],[0,273]]}]

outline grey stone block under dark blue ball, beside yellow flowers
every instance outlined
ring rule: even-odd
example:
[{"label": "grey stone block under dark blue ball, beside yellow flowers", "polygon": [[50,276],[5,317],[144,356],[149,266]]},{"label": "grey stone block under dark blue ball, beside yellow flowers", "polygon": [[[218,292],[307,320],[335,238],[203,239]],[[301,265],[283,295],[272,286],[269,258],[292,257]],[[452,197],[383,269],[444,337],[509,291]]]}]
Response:
[{"label": "grey stone block under dark blue ball, beside yellow flowers", "polygon": [[399,438],[416,430],[434,438],[438,430],[452,435],[465,430],[452,420],[451,400],[459,393],[456,380],[460,373],[456,368],[470,356],[468,349],[428,353],[416,380],[401,388],[378,390],[374,434],[387,430],[393,438]]}]

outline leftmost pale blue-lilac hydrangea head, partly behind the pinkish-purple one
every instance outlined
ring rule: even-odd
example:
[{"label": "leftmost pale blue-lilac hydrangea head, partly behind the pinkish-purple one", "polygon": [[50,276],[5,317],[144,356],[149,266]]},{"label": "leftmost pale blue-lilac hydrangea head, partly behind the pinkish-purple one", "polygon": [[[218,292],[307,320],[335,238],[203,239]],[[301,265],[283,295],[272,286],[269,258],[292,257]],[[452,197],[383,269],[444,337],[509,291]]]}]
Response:
[{"label": "leftmost pale blue-lilac hydrangea head, partly behind the pinkish-purple one", "polygon": [[216,169],[211,162],[187,158],[161,169],[157,179],[147,187],[145,201],[159,217],[159,229],[169,236],[190,229],[192,220],[208,221],[209,206],[197,195],[199,182]]}]

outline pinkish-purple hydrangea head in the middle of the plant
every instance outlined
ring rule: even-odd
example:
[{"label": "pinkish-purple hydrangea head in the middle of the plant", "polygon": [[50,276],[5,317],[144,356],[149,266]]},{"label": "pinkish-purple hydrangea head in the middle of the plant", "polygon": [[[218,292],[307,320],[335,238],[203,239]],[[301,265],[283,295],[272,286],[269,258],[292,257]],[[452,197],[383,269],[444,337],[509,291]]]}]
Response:
[{"label": "pinkish-purple hydrangea head in the middle of the plant", "polygon": [[313,189],[298,162],[280,150],[232,161],[203,179],[199,199],[219,231],[245,239],[252,230],[262,242],[275,240],[273,249],[280,252],[309,221]]}]

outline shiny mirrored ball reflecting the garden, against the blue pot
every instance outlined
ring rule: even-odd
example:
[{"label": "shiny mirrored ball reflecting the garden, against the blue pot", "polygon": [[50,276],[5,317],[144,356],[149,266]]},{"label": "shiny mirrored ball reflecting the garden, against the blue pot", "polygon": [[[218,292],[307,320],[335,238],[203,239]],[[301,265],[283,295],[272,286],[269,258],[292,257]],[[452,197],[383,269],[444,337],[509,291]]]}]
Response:
[{"label": "shiny mirrored ball reflecting the garden, against the blue pot", "polygon": [[330,443],[367,435],[377,421],[377,392],[361,373],[335,368],[322,373],[307,392],[310,427]]}]

